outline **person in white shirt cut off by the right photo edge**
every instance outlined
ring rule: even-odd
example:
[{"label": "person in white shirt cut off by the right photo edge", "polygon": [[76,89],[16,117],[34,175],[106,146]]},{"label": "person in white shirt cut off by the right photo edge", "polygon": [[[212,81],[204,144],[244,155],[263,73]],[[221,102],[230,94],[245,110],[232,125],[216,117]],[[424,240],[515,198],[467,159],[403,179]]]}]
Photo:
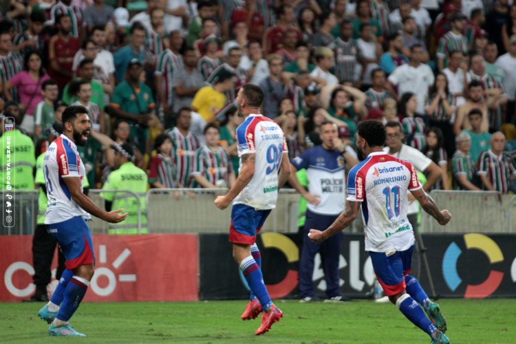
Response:
[{"label": "person in white shirt cut off by the right photo edge", "polygon": [[507,114],[505,122],[514,122],[516,100],[516,34],[510,36],[508,51],[497,58],[498,67],[504,71],[504,88],[507,94]]}]

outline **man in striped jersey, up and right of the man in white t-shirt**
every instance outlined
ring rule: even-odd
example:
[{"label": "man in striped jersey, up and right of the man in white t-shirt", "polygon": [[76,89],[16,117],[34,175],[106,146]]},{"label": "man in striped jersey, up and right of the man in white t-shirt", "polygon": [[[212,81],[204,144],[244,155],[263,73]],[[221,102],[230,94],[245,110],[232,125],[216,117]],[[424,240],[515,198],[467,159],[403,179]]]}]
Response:
[{"label": "man in striped jersey, up and right of the man in white t-shirt", "polygon": [[438,42],[438,67],[441,71],[448,65],[448,58],[451,52],[460,50],[464,54],[468,52],[468,43],[466,37],[462,34],[464,29],[464,17],[462,14],[455,13],[449,19],[451,30],[444,34]]}]

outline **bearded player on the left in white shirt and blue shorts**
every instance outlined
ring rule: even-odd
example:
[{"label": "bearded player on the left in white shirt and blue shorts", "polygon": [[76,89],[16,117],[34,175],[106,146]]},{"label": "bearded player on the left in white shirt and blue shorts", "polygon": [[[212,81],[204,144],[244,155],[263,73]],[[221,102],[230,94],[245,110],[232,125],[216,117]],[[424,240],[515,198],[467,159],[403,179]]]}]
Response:
[{"label": "bearded player on the left in white shirt and blue shorts", "polygon": [[51,336],[85,336],[76,332],[68,321],[83,300],[94,275],[92,234],[86,219],[91,220],[92,214],[107,222],[118,223],[127,217],[127,213],[120,214],[123,209],[103,211],[83,194],[85,167],[77,145],[84,147],[87,143],[92,127],[87,114],[83,106],[65,109],[63,134],[50,144],[43,164],[48,197],[45,224],[47,232],[65,254],[67,268],[52,299],[38,313],[51,324],[48,329]]}]

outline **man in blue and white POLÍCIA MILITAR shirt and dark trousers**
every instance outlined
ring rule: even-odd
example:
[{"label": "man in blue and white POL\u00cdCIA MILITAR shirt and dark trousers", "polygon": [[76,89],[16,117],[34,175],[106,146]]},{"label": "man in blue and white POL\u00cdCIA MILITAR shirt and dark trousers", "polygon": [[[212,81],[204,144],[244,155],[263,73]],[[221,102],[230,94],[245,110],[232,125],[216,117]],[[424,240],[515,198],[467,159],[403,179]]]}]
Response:
[{"label": "man in blue and white POL\u00cdCIA MILITAR shirt and dark trousers", "polygon": [[[345,167],[351,169],[357,161],[338,139],[337,127],[333,122],[325,121],[321,125],[321,141],[321,145],[304,151],[290,162],[291,173],[288,181],[308,201],[299,265],[301,302],[320,301],[315,296],[312,283],[317,252],[321,253],[323,260],[327,301],[350,301],[342,296],[338,283],[338,258],[341,254],[343,233],[338,233],[321,244],[313,244],[308,233],[310,228],[324,230],[343,211],[346,198]],[[296,172],[300,169],[306,169],[309,191],[297,179]]]}]

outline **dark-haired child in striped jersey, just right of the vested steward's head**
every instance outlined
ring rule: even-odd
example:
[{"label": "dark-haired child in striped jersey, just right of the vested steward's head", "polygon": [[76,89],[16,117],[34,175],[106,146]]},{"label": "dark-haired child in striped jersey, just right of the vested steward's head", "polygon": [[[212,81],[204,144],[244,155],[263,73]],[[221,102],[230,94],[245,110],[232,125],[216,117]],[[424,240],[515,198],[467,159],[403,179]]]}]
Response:
[{"label": "dark-haired child in striped jersey, just right of the vested steward's head", "polygon": [[172,139],[166,133],[158,135],[154,141],[156,155],[151,160],[149,184],[157,189],[178,188],[178,175],[172,159]]}]

